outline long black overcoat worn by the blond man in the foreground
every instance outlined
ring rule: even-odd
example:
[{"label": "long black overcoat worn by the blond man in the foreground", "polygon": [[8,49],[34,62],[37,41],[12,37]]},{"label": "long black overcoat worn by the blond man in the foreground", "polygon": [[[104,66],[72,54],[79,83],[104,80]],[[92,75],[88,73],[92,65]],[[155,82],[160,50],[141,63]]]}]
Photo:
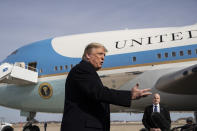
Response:
[{"label": "long black overcoat worn by the blond man in the foreground", "polygon": [[109,131],[109,104],[129,107],[131,92],[103,86],[93,65],[81,61],[66,80],[61,131]]}]

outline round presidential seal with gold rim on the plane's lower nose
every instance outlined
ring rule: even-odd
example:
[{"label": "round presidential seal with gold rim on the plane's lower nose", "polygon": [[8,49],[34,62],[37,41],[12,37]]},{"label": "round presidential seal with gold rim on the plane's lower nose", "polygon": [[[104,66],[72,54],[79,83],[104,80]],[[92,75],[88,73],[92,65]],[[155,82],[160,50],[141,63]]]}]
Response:
[{"label": "round presidential seal with gold rim on the plane's lower nose", "polygon": [[49,99],[53,95],[53,88],[49,83],[42,83],[38,92],[42,98]]}]

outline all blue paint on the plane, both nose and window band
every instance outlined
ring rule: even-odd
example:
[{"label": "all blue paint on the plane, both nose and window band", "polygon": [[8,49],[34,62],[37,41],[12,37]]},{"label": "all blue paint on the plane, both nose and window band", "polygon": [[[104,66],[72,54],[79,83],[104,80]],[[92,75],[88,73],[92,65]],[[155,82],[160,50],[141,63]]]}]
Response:
[{"label": "all blue paint on the plane, both nose and window band", "polygon": [[[42,73],[39,73],[39,76],[69,72],[71,64],[76,65],[79,63],[81,58],[71,58],[59,55],[54,51],[51,45],[51,40],[52,39],[38,41],[19,48],[15,54],[8,56],[3,62],[25,62],[25,64],[28,64],[29,62],[37,62],[38,70],[42,69],[43,71]],[[105,57],[103,68],[196,58],[196,49],[197,44],[193,44],[180,47],[110,55]],[[188,50],[192,51],[191,55],[187,54]],[[184,55],[180,56],[179,51],[183,51]],[[176,52],[176,57],[172,57],[172,52]],[[162,55],[161,59],[158,59],[158,53]],[[164,57],[164,53],[168,53],[167,58]],[[133,57],[136,57],[135,62],[132,61]],[[64,68],[65,65],[67,65],[67,69]],[[58,67],[57,71],[55,70],[55,66]],[[60,66],[63,67],[63,70],[60,70]]]}]

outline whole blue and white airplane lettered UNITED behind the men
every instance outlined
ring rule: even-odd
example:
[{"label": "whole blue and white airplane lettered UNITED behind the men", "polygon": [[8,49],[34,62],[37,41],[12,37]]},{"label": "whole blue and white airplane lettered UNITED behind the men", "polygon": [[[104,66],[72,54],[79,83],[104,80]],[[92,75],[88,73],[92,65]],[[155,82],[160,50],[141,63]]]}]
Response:
[{"label": "whole blue and white airplane lettered UNITED behind the men", "polygon": [[[197,24],[183,27],[125,29],[61,36],[16,49],[0,65],[0,105],[27,117],[36,112],[62,113],[65,80],[81,61],[85,46],[103,44],[107,56],[98,71],[109,88],[151,88],[170,111],[197,111]],[[152,96],[132,101],[130,108],[111,106],[111,112],[142,112]]]}]

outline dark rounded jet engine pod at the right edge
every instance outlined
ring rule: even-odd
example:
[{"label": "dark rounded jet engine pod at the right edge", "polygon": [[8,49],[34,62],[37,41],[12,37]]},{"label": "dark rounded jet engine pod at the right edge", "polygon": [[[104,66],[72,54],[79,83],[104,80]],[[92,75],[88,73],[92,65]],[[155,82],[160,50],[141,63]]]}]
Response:
[{"label": "dark rounded jet engine pod at the right edge", "polygon": [[160,77],[155,87],[173,94],[197,94],[197,64]]}]

